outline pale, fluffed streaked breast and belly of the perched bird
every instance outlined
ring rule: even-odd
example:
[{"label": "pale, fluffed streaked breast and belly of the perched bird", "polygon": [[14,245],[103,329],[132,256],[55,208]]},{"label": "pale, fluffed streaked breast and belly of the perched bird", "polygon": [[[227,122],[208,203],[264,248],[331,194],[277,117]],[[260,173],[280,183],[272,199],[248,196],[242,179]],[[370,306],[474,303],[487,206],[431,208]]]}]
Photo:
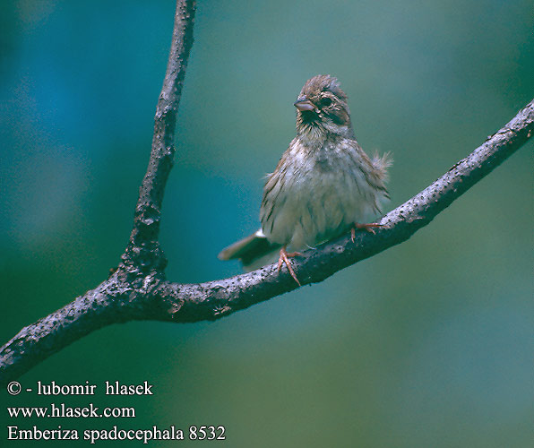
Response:
[{"label": "pale, fluffed streaked breast and belly of the perched bird", "polygon": [[348,230],[375,201],[357,154],[325,144],[292,142],[265,185],[260,218],[274,243],[303,250]]}]

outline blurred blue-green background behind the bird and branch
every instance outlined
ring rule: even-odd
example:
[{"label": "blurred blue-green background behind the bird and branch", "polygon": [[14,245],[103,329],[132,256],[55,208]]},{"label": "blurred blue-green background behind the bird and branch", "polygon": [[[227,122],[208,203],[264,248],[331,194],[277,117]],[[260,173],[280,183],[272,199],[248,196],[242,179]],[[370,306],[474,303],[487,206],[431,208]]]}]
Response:
[{"label": "blurred blue-green background behind the bird and branch", "polygon": [[[174,7],[2,2],[2,342],[118,263]],[[527,0],[200,2],[163,209],[168,278],[240,271],[216,255],[258,228],[263,175],[295,134],[306,79],[337,76],[358,141],[393,152],[391,210],[532,99],[533,30]],[[73,343],[22,386],[146,380],[155,394],[2,391],[2,440],[7,425],[224,425],[235,447],[530,446],[531,154],[530,142],[408,242],[321,284],[216,323],[127,323]],[[5,411],[50,402],[137,417]]]}]

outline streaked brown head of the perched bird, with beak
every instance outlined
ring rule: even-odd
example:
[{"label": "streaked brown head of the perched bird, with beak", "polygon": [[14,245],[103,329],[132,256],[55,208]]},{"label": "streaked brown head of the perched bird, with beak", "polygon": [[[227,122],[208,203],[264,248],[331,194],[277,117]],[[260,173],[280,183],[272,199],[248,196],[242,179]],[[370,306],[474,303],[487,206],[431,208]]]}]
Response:
[{"label": "streaked brown head of the perched bird, with beak", "polygon": [[297,101],[297,134],[320,138],[327,134],[352,137],[347,95],[329,74],[318,74],[306,81]]}]

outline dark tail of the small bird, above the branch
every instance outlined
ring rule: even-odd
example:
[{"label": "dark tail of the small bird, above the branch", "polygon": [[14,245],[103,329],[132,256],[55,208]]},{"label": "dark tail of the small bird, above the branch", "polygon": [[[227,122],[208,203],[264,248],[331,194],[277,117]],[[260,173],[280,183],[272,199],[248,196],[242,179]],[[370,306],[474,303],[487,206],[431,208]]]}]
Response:
[{"label": "dark tail of the small bird, above the branch", "polygon": [[274,263],[278,258],[279,249],[280,245],[271,244],[260,229],[221,250],[218,258],[220,260],[239,259],[245,271],[253,271],[265,264]]}]

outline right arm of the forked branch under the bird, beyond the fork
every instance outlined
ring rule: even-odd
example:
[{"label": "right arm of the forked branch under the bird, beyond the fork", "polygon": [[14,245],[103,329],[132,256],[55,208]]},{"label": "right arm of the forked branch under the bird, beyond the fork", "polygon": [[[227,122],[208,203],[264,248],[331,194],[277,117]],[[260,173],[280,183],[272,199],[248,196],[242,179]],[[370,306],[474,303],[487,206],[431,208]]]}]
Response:
[{"label": "right arm of the forked branch under the bird, beyond the fork", "polygon": [[[323,281],[351,264],[406,241],[510,157],[533,134],[534,99],[444,176],[385,215],[379,221],[383,227],[378,228],[375,235],[358,232],[352,243],[348,234],[292,259],[297,278],[302,285]],[[293,289],[297,289],[297,284],[289,271],[283,269],[279,273],[277,266],[271,264],[230,279],[196,285],[162,282],[157,292],[168,303],[164,307],[168,308],[174,322],[196,322],[218,319]]]}]

